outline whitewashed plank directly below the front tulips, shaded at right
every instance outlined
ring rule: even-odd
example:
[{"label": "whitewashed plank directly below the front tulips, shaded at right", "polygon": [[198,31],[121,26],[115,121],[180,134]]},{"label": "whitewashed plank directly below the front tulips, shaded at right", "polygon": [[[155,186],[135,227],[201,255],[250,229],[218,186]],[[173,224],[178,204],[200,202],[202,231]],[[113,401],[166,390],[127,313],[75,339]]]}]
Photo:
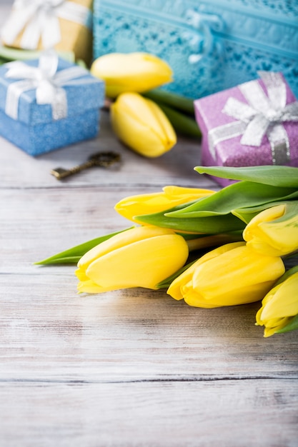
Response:
[{"label": "whitewashed plank directly below the front tulips, shaded at right", "polygon": [[202,309],[141,288],[76,294],[74,268],[1,275],[0,378],[297,378],[297,334],[264,339],[258,303]]}]

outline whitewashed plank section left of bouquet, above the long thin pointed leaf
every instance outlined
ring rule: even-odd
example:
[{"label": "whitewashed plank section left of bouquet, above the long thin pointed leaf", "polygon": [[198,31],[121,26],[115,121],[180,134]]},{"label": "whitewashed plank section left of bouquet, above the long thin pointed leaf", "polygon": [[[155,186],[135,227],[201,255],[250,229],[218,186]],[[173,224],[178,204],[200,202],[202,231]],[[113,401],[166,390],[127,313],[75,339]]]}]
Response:
[{"label": "whitewashed plank section left of bouquet, above the long thin pointed leaf", "polygon": [[132,223],[114,211],[123,196],[119,189],[101,188],[0,190],[0,271],[23,271],[41,258],[128,228]]}]

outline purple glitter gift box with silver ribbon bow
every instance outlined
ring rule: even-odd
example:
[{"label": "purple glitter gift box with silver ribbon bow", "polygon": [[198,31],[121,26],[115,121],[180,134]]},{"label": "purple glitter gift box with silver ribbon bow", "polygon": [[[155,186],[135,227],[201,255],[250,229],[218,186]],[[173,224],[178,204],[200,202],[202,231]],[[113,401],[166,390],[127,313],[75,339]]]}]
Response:
[{"label": "purple glitter gift box with silver ribbon bow", "polygon": [[259,76],[194,101],[202,166],[298,166],[298,101],[282,74]]}]

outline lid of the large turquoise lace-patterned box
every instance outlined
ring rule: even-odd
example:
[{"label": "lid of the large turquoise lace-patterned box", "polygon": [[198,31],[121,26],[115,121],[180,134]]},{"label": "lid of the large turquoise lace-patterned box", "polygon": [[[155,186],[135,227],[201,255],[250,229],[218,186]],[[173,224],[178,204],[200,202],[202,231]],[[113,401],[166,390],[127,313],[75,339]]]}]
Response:
[{"label": "lid of the large turquoise lace-patterned box", "polygon": [[230,39],[298,59],[296,0],[95,0],[94,22],[101,12],[120,11],[172,22],[204,34],[204,22],[219,39]]}]

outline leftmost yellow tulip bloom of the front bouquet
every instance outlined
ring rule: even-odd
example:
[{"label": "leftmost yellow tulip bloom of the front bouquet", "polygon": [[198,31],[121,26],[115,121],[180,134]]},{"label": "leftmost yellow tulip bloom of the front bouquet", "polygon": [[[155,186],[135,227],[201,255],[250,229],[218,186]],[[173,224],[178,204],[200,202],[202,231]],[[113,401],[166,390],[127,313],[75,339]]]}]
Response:
[{"label": "leftmost yellow tulip bloom of the front bouquet", "polygon": [[101,293],[119,288],[156,289],[184,266],[187,243],[172,230],[131,228],[91,248],[78,263],[78,290]]}]

